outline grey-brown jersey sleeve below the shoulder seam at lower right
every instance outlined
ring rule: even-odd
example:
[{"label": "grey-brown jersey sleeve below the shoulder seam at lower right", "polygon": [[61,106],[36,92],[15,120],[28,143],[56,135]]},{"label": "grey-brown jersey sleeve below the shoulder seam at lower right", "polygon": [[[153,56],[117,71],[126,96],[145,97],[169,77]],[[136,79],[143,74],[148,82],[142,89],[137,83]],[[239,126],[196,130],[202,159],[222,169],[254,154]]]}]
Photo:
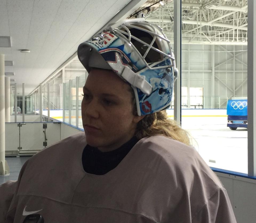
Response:
[{"label": "grey-brown jersey sleeve below the shoulder seam at lower right", "polygon": [[218,189],[201,210],[192,216],[192,223],[237,223],[227,191]]}]

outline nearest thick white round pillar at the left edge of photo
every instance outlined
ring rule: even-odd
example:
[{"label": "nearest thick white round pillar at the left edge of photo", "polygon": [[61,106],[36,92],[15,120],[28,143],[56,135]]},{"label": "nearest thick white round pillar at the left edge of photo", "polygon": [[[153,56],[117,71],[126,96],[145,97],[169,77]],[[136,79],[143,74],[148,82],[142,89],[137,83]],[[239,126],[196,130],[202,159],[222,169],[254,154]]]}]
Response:
[{"label": "nearest thick white round pillar at the left edge of photo", "polygon": [[9,175],[5,160],[5,55],[0,54],[0,175]]}]

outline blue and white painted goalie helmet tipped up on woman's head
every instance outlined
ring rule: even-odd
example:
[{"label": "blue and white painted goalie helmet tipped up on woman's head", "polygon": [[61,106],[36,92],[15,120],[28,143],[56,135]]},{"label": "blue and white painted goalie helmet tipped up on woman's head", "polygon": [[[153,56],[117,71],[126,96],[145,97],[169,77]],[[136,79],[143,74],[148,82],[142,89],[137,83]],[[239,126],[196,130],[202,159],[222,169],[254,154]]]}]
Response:
[{"label": "blue and white painted goalie helmet tipped up on woman's head", "polygon": [[169,108],[177,77],[174,55],[162,29],[128,19],[81,43],[78,58],[91,67],[112,69],[134,90],[139,116]]}]

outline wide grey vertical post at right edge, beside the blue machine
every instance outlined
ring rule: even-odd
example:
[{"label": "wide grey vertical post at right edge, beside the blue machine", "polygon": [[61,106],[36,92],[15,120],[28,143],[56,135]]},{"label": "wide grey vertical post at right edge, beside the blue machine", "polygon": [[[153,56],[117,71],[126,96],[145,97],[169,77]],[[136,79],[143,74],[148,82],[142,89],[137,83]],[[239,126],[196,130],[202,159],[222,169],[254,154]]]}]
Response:
[{"label": "wide grey vertical post at right edge, beside the blue machine", "polygon": [[248,175],[256,176],[256,2],[248,1]]}]

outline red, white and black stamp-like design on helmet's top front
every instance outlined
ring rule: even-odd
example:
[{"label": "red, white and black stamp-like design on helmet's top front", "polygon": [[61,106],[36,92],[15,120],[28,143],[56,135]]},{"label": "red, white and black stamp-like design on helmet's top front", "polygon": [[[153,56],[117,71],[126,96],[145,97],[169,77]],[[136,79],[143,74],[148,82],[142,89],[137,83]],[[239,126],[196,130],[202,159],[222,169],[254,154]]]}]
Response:
[{"label": "red, white and black stamp-like design on helmet's top front", "polygon": [[93,43],[99,49],[108,47],[111,43],[113,43],[117,39],[117,36],[109,33],[109,32],[102,32],[97,34],[91,38],[88,42]]}]

